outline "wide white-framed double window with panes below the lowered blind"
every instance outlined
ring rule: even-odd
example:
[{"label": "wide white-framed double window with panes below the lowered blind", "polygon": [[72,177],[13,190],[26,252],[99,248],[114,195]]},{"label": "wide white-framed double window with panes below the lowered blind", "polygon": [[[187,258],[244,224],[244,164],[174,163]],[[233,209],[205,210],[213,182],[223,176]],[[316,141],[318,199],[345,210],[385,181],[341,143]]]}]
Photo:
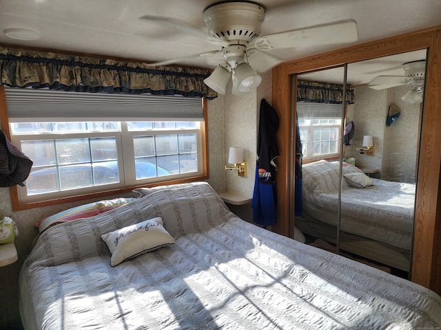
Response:
[{"label": "wide white-framed double window with panes below the lowered blind", "polygon": [[8,104],[12,143],[34,162],[17,186],[21,204],[207,175],[203,120],[48,121],[14,111]]}]

